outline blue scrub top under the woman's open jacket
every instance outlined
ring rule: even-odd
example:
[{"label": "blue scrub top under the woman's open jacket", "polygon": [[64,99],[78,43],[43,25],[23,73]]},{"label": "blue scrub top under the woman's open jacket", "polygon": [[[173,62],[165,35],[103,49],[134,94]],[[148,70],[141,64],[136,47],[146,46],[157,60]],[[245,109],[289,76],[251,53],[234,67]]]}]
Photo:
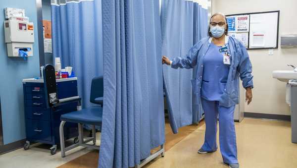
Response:
[{"label": "blue scrub top under the woman's open jacket", "polygon": [[209,101],[221,101],[227,83],[230,65],[223,63],[224,52],[220,53],[220,48],[222,46],[210,43],[203,57],[201,98]]}]

